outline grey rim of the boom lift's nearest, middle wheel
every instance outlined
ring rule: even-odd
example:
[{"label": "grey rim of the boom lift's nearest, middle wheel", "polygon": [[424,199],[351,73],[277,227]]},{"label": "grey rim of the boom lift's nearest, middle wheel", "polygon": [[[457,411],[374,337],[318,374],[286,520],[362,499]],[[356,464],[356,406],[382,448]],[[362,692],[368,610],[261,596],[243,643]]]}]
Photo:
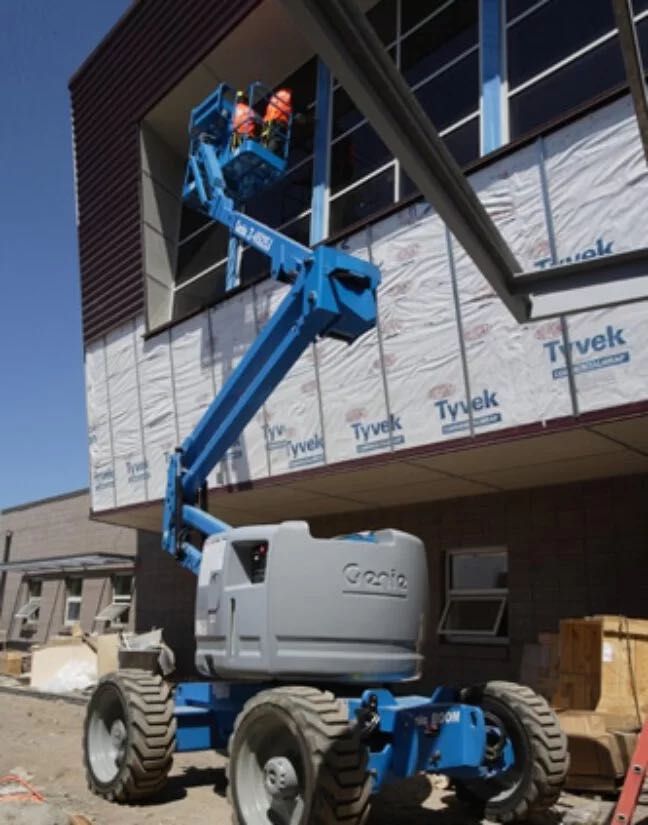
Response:
[{"label": "grey rim of the boom lift's nearest, middle wheel", "polygon": [[234,775],[245,825],[300,825],[306,809],[305,765],[288,717],[266,710],[246,726]]}]

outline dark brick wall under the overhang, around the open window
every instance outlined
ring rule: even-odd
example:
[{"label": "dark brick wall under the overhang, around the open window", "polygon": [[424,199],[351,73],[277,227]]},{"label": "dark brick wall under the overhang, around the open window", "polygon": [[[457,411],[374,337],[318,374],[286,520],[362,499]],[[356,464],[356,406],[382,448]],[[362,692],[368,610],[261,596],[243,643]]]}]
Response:
[{"label": "dark brick wall under the overhang, around the open window", "polygon": [[[621,613],[648,618],[648,476],[491,494],[394,510],[311,519],[316,535],[390,526],[415,533],[429,559],[426,685],[519,678],[522,645],[561,618]],[[440,642],[445,551],[505,545],[510,643]]]}]

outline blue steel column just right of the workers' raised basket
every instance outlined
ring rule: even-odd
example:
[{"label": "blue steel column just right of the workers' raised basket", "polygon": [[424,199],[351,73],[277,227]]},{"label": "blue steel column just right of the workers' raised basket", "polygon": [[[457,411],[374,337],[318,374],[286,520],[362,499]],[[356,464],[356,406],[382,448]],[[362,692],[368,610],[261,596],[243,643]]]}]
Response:
[{"label": "blue steel column just right of the workers' raised basket", "polygon": [[317,61],[317,98],[315,137],[313,140],[313,195],[311,198],[310,245],[328,235],[328,190],[330,168],[330,133],[332,108],[331,72],[322,60]]}]

